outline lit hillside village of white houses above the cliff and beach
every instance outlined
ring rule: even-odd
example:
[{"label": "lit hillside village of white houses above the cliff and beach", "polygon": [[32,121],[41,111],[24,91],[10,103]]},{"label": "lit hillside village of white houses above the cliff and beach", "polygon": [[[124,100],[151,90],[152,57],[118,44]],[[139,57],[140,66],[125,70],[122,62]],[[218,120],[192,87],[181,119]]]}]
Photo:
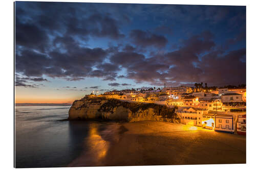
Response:
[{"label": "lit hillside village of white houses above the cliff and beach", "polygon": [[[92,95],[94,95],[92,93]],[[96,95],[96,94],[95,94]],[[246,134],[246,87],[166,87],[112,90],[105,98],[176,107],[181,123],[207,129]]]}]

